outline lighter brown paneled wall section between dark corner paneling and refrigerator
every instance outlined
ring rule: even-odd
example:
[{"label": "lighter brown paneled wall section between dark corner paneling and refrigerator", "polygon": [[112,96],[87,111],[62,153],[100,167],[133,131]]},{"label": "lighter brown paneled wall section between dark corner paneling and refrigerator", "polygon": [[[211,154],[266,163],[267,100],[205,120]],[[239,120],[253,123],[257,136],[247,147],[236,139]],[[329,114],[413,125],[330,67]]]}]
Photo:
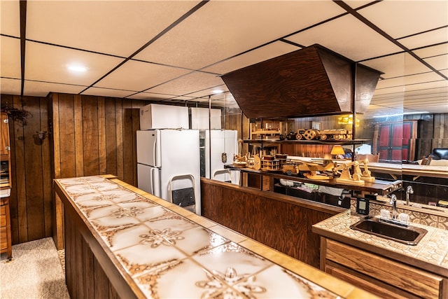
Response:
[{"label": "lighter brown paneled wall section between dark corner paneling and refrigerator", "polygon": [[113,174],[137,186],[136,131],[144,101],[50,95],[55,178]]}]

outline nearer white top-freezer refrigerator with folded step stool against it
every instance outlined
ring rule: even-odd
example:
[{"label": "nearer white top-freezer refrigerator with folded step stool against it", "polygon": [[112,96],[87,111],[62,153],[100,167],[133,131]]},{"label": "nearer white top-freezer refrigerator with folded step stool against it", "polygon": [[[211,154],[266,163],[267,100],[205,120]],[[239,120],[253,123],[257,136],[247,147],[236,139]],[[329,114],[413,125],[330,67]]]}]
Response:
[{"label": "nearer white top-freezer refrigerator with folded step stool against it", "polygon": [[199,141],[199,130],[138,130],[139,189],[200,214]]}]

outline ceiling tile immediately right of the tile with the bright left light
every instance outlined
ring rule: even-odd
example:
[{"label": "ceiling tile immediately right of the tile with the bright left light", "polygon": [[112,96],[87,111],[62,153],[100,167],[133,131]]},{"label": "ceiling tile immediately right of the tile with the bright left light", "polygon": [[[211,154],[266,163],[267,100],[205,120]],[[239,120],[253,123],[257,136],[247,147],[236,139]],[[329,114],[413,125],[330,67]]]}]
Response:
[{"label": "ceiling tile immediately right of the tile with the bright left light", "polygon": [[188,72],[186,69],[129,60],[95,86],[141,91]]}]

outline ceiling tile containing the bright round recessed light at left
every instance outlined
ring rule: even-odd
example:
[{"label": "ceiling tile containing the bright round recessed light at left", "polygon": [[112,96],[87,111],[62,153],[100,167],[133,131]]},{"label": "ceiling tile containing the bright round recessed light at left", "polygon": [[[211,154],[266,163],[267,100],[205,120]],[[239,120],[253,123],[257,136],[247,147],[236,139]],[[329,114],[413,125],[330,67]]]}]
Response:
[{"label": "ceiling tile containing the bright round recessed light at left", "polygon": [[[27,41],[25,61],[28,80],[88,86],[123,59]],[[87,71],[73,74],[67,69],[70,64],[82,64]]]}]

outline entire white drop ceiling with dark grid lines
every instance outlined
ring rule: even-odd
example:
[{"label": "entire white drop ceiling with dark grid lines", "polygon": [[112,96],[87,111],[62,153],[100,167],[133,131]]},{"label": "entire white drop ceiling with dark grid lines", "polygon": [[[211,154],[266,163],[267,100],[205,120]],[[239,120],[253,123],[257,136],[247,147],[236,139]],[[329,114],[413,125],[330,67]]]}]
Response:
[{"label": "entire white drop ceiling with dark grid lines", "polygon": [[448,113],[448,1],[22,2],[1,0],[1,94],[237,106],[223,74],[318,43],[384,73],[367,115]]}]

